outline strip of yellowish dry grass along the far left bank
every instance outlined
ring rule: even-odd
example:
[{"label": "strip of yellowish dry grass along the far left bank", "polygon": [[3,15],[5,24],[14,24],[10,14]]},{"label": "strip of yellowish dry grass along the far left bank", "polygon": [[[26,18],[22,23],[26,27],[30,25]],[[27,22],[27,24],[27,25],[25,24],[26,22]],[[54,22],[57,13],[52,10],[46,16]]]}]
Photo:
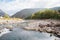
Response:
[{"label": "strip of yellowish dry grass along the far left bank", "polygon": [[20,18],[0,18],[0,23],[16,23],[21,22],[23,19]]}]

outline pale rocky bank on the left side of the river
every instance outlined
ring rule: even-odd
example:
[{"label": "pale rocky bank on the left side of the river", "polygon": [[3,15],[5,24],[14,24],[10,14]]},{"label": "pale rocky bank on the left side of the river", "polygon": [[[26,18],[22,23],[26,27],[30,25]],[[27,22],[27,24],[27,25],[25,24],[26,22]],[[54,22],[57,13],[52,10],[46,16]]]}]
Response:
[{"label": "pale rocky bank on the left side of the river", "polygon": [[[22,19],[13,19],[13,18],[10,18],[10,19],[0,19],[0,34],[3,33],[3,32],[6,32],[5,30],[3,29],[9,29],[9,31],[12,31],[13,28],[17,27],[18,23],[20,22],[24,22],[24,20]],[[15,24],[15,25],[14,25]]]}]

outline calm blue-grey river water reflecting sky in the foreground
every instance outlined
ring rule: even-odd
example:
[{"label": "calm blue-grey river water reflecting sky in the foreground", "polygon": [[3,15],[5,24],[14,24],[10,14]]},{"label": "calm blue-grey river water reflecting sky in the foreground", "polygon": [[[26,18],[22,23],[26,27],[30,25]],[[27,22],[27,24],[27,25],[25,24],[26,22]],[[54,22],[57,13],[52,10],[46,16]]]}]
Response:
[{"label": "calm blue-grey river water reflecting sky in the foreground", "polygon": [[[16,25],[17,24],[13,24],[13,26],[16,26]],[[20,25],[28,26],[27,22],[20,23]],[[50,34],[48,33],[43,33],[43,32],[41,33],[38,31],[27,31],[21,28],[16,28],[16,27],[13,28],[13,31],[10,31],[0,36],[0,40],[55,40],[55,38],[56,38],[55,36],[50,37]]]}]

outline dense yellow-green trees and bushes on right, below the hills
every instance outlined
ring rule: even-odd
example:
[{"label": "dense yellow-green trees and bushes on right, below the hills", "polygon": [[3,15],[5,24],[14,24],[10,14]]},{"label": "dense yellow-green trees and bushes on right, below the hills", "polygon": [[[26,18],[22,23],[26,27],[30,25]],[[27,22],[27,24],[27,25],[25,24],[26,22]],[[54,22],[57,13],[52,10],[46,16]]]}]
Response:
[{"label": "dense yellow-green trees and bushes on right, below the hills", "polygon": [[42,10],[32,14],[31,19],[60,19],[60,13],[56,10]]}]

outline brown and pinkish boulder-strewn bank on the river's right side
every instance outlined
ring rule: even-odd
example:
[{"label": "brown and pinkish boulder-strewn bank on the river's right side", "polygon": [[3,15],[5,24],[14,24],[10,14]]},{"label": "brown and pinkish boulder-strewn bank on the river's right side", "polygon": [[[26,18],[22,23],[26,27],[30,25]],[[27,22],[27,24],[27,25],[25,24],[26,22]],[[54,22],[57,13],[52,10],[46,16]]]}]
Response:
[{"label": "brown and pinkish boulder-strewn bank on the river's right side", "polygon": [[60,38],[60,21],[59,20],[42,20],[42,21],[34,21],[31,23],[31,25],[35,25],[35,27],[24,27],[25,30],[30,31],[39,31],[39,32],[47,32],[51,33],[56,37]]}]

